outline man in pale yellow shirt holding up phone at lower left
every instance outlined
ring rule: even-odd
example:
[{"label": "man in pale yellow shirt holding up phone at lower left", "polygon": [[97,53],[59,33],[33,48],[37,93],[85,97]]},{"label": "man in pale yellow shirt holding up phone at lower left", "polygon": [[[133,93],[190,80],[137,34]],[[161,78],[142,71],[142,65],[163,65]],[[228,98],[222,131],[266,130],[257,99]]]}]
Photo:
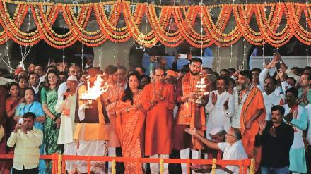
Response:
[{"label": "man in pale yellow shirt holding up phone at lower left", "polygon": [[15,145],[12,173],[37,174],[43,132],[33,128],[34,113],[25,113],[20,119],[23,119],[23,124],[16,124],[7,142],[8,147]]}]

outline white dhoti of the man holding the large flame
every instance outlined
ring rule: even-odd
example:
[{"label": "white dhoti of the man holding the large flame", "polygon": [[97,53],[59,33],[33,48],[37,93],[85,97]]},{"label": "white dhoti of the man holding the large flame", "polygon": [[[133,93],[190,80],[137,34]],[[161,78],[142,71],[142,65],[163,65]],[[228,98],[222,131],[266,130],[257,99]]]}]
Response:
[{"label": "white dhoti of the man holding the large flame", "polygon": [[[77,154],[78,156],[106,156],[107,141],[80,140]],[[77,161],[77,169],[81,173],[88,173],[88,161]],[[94,173],[105,173],[105,161],[91,161],[90,171],[93,171]]]}]

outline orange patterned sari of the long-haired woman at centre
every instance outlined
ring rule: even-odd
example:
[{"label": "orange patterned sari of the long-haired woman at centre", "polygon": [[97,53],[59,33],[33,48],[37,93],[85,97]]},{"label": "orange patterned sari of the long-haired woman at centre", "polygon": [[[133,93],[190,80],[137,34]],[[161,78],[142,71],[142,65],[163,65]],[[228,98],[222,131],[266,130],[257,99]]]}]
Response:
[{"label": "orange patterned sari of the long-haired woman at centre", "polygon": [[[117,113],[117,136],[121,143],[123,156],[125,151],[130,151],[129,156],[124,157],[141,158],[143,149],[143,129],[141,129],[138,136],[135,135],[137,135],[136,131],[139,131],[139,128],[143,127],[141,124],[144,123],[145,113],[138,110],[122,113],[122,111],[130,107],[132,107],[130,102],[117,101],[117,106],[115,108]],[[129,149],[131,143],[134,143],[134,146],[132,149]],[[136,166],[136,163],[124,163],[124,166],[124,173],[143,173],[143,166],[141,163],[138,166]]]}]

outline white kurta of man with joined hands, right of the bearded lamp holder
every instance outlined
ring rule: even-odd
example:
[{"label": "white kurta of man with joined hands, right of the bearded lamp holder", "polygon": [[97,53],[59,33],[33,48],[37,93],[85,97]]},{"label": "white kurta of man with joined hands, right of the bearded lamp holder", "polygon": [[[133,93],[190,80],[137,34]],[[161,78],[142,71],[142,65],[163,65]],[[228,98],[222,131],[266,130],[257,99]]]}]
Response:
[{"label": "white kurta of man with joined hands, right of the bearded lamp holder", "polygon": [[[211,93],[214,93],[217,96],[217,101],[215,105],[213,105]],[[228,132],[228,130],[231,127],[230,118],[234,113],[234,107],[235,107],[233,95],[231,95],[228,92],[223,92],[219,94],[217,90],[211,93],[209,94],[209,102],[205,106],[206,113],[209,113],[209,118],[206,124],[206,128],[207,128],[206,135],[209,135],[209,132],[213,130],[213,128],[216,128],[219,126],[223,126],[224,130]],[[227,99],[229,99],[228,109],[225,110],[225,108],[223,107],[223,104],[225,103]]]}]

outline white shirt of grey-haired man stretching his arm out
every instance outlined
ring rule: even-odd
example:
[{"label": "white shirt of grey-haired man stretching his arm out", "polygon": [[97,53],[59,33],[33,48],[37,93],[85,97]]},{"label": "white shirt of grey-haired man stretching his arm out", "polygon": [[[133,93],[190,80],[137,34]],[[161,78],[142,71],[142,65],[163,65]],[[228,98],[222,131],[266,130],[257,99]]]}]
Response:
[{"label": "white shirt of grey-haired man stretching his arm out", "polygon": [[[218,143],[218,147],[223,151],[223,160],[247,159],[247,154],[241,141],[237,141],[232,145],[228,142],[221,142]],[[234,174],[239,173],[239,166],[225,166],[225,168],[233,171]]]}]

